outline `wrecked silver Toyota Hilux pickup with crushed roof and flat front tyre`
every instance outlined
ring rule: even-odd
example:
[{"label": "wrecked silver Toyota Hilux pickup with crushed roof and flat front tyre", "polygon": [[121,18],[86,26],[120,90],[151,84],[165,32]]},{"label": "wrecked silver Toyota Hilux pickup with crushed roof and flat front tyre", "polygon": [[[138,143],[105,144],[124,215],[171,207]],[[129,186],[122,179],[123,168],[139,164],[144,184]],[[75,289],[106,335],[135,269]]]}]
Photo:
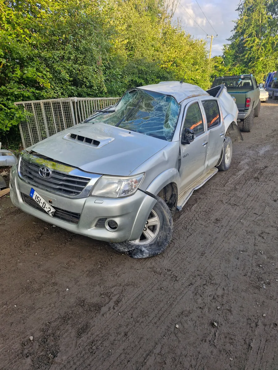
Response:
[{"label": "wrecked silver Toyota Hilux pickup with crushed roof and flat front tyre", "polygon": [[224,85],[130,89],[115,106],[21,152],[15,206],[134,258],[163,252],[173,216],[195,189],[229,169],[242,140]]}]

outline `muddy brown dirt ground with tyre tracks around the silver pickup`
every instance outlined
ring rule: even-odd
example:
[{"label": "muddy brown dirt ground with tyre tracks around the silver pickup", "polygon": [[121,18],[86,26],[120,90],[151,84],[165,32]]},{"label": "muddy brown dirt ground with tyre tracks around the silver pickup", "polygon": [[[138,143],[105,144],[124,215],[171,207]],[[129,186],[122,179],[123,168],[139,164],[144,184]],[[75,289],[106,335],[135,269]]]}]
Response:
[{"label": "muddy brown dirt ground with tyre tracks around the silver pickup", "polygon": [[0,369],[277,370],[278,102],[243,137],[154,258],[1,198]]}]

